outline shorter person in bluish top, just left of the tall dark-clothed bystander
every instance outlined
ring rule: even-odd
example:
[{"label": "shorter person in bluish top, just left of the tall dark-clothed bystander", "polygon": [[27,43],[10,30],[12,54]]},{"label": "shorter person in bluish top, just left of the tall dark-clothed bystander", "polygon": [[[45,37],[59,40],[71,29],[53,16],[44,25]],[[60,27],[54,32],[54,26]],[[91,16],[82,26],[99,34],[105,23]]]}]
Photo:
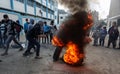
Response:
[{"label": "shorter person in bluish top, just left of the tall dark-clothed bystander", "polygon": [[100,30],[100,40],[99,40],[100,46],[104,46],[106,35],[107,35],[107,29],[106,27],[103,27],[103,29]]}]

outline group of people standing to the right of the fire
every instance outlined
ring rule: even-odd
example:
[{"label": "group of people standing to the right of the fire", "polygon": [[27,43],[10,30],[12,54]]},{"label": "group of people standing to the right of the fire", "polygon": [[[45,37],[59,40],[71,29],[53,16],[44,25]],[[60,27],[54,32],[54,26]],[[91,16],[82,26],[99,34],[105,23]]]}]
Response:
[{"label": "group of people standing to the right of the fire", "polygon": [[118,49],[120,49],[120,34],[119,34],[119,30],[118,30],[118,26],[116,24],[116,22],[112,23],[112,27],[110,27],[107,31],[106,27],[103,27],[100,30],[95,30],[92,37],[94,39],[93,41],[93,46],[104,46],[105,43],[105,38],[108,35],[108,44],[107,44],[107,48],[110,47],[110,45],[112,44],[113,48],[117,48],[117,40],[119,38],[119,47]]}]

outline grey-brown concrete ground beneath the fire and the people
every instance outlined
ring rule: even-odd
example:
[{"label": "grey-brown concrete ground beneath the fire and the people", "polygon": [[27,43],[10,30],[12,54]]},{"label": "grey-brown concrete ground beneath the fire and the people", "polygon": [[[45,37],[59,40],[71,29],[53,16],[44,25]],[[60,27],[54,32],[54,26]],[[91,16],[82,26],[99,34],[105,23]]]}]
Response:
[{"label": "grey-brown concrete ground beneath the fire and the people", "polygon": [[[0,53],[3,51],[0,49]],[[85,65],[72,67],[61,61],[52,61],[54,47],[50,44],[41,45],[40,55],[43,58],[37,60],[34,59],[35,54],[23,57],[23,51],[10,49],[9,55],[0,56],[3,60],[0,62],[0,74],[120,74],[120,50],[90,44],[85,51]]]}]

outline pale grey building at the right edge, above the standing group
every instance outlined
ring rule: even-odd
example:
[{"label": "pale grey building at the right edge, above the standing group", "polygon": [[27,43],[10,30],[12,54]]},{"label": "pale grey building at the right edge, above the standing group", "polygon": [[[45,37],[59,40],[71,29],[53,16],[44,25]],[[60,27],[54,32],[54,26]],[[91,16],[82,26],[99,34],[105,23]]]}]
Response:
[{"label": "pale grey building at the right edge, above the standing group", "polygon": [[108,16],[108,25],[111,27],[113,22],[120,26],[120,0],[111,0],[110,11]]}]

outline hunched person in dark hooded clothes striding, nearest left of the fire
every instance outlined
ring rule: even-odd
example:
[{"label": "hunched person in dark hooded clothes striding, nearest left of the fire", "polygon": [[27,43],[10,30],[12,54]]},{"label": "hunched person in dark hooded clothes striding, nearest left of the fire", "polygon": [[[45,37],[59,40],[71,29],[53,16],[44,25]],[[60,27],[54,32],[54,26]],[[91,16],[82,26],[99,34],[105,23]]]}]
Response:
[{"label": "hunched person in dark hooded clothes striding, nearest left of the fire", "polygon": [[23,53],[23,56],[30,55],[31,48],[36,46],[36,56],[35,56],[35,59],[40,59],[41,58],[41,57],[39,57],[40,44],[36,40],[38,35],[40,35],[40,33],[41,33],[41,24],[43,24],[43,22],[39,21],[37,24],[35,24],[35,26],[31,30],[28,31],[28,33],[27,33],[27,40],[29,41],[29,43],[28,43],[27,50]]}]

